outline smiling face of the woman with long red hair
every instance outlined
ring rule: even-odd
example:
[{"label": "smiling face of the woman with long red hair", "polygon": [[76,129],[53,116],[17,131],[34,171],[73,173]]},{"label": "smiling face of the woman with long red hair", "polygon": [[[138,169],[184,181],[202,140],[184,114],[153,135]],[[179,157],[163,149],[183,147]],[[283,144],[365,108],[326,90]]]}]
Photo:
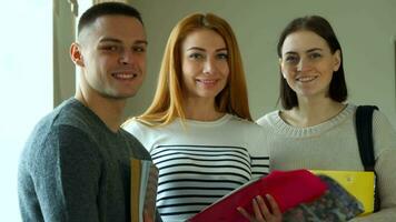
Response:
[{"label": "smiling face of the woman with long red hair", "polygon": [[182,90],[187,99],[209,99],[226,87],[229,75],[228,50],[220,34],[198,29],[181,42]]}]

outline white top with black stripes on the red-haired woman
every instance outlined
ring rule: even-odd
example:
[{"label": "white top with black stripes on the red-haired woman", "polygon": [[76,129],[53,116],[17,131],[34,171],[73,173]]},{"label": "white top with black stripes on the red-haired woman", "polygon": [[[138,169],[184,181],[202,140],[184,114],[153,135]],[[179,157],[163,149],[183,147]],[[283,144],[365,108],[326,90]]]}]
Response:
[{"label": "white top with black stripes on the red-haired woman", "polygon": [[268,173],[263,128],[226,114],[212,122],[179,120],[164,128],[125,127],[159,169],[157,208],[164,221],[185,221],[225,194]]}]

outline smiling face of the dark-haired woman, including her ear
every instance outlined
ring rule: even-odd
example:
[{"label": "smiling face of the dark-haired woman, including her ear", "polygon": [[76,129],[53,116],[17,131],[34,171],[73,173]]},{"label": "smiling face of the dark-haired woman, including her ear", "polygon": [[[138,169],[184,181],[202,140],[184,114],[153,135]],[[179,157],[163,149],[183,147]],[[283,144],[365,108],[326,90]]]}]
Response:
[{"label": "smiling face of the dark-haired woman, including her ear", "polygon": [[326,40],[313,31],[293,32],[284,41],[281,73],[299,98],[327,97],[339,65],[339,51],[331,53]]}]

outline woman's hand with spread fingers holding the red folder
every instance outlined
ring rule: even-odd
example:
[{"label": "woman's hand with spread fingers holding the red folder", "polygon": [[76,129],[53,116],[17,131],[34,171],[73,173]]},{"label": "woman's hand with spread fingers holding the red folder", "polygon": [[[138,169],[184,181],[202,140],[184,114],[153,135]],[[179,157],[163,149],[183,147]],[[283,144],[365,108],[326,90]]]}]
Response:
[{"label": "woman's hand with spread fingers holding the red folder", "polygon": [[266,194],[266,199],[268,200],[270,210],[260,195],[253,199],[255,215],[250,215],[250,213],[240,206],[237,210],[250,222],[281,222],[281,212],[275,199],[269,194]]}]

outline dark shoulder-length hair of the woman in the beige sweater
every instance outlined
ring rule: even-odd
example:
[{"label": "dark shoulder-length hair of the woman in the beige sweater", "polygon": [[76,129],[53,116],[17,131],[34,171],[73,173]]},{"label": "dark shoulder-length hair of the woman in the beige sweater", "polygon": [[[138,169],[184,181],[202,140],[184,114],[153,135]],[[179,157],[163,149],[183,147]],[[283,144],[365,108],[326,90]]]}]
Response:
[{"label": "dark shoulder-length hair of the woman in the beige sweater", "polygon": [[[340,56],[340,65],[337,71],[333,73],[333,79],[329,87],[328,95],[337,102],[344,102],[348,97],[348,91],[345,81],[344,65],[343,65],[343,50],[334,32],[330,23],[323,17],[319,16],[307,16],[300,17],[293,20],[284,31],[280,33],[277,51],[278,57],[281,58],[281,48],[284,46],[284,41],[287,36],[300,31],[311,31],[325,39],[328,47],[330,48],[331,53],[335,53],[339,50]],[[287,81],[283,78],[280,71],[280,92],[279,100],[281,101],[281,105],[286,110],[290,110],[294,107],[298,107],[298,100],[296,92],[288,85]]]}]

